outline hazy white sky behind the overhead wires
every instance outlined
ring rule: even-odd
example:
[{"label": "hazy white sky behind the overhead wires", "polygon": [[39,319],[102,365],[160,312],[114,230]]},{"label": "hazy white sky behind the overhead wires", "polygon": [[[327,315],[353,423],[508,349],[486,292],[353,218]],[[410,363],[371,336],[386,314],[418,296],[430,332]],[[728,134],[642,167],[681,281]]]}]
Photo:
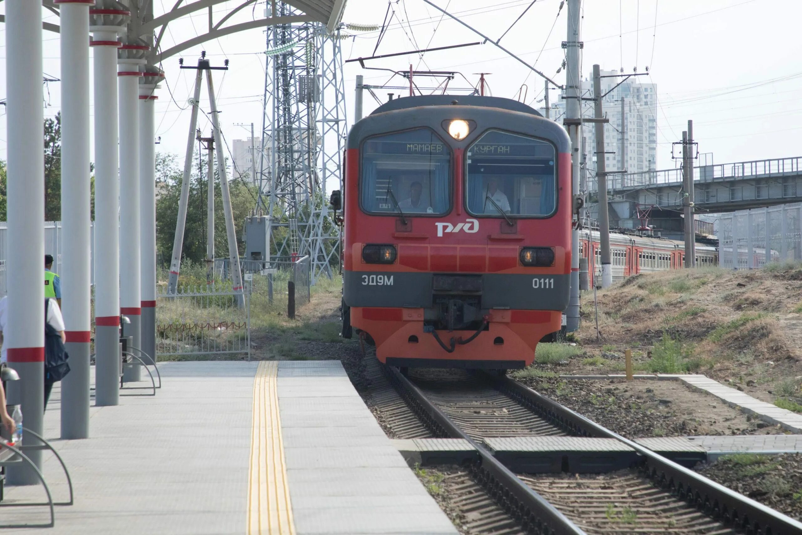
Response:
[{"label": "hazy white sky behind the overhead wires", "polygon": [[[173,0],[153,0],[156,14],[164,13]],[[504,33],[510,24],[529,6],[531,0],[436,0],[465,22],[492,39]],[[215,20],[241,2],[223,2],[214,7]],[[565,83],[565,71],[557,74],[564,59],[561,41],[565,40],[567,6],[560,0],[537,0],[520,21],[506,34],[501,44],[557,83]],[[802,17],[802,3],[796,0],[586,0],[582,2],[582,74],[586,77],[599,63],[602,69],[620,69],[650,75],[642,83],[658,85],[658,168],[674,167],[670,158],[671,142],[679,140],[687,120],[694,120],[695,138],[700,152],[712,152],[715,163],[742,160],[802,156],[802,125],[798,124],[802,107],[795,104],[802,91],[802,59],[800,39],[796,33]],[[379,44],[376,54],[411,51],[416,48],[443,47],[471,43],[477,39],[470,30],[440,14],[422,0],[392,0],[392,22]],[[0,12],[4,10],[0,2]],[[262,16],[264,2],[242,10],[232,20],[244,22],[254,14]],[[381,24],[387,12],[383,0],[349,0],[344,22]],[[394,13],[395,12],[395,13]],[[45,11],[45,13],[49,13]],[[48,14],[48,22],[58,22]],[[165,33],[163,49],[173,43],[205,33],[208,13],[196,14],[173,23]],[[435,31],[436,30],[436,31]],[[2,34],[4,28],[0,29]],[[344,59],[372,55],[378,31],[355,33],[342,42]],[[59,77],[59,39],[44,32],[44,71]],[[5,96],[5,43],[0,37],[0,96]],[[233,139],[249,135],[249,124],[261,128],[261,95],[264,91],[265,34],[249,30],[226,36],[181,55],[194,63],[201,50],[206,50],[213,64],[230,59],[230,70],[215,73],[221,127],[229,144]],[[516,98],[522,84],[526,100],[533,106],[542,98],[543,80],[526,67],[509,58],[491,43],[423,55],[403,55],[377,59],[367,67],[395,71],[407,70],[410,63],[420,70],[459,71],[452,87],[475,85],[480,71],[490,72],[492,95]],[[193,71],[178,68],[178,58],[166,59],[162,65],[167,85],[159,93],[156,104],[157,150],[183,155],[186,146],[189,111],[187,99],[192,91]],[[382,85],[390,73],[365,71],[358,63],[345,68],[346,99],[349,122],[353,111],[354,77],[365,75],[365,82]],[[405,85],[395,77],[390,85]],[[424,82],[421,82],[424,83]],[[428,83],[428,80],[425,82]],[[375,90],[381,99],[388,92]],[[201,106],[209,111],[205,87]],[[796,95],[796,96],[795,96]],[[553,91],[552,98],[557,98]],[[48,83],[45,91],[46,116],[55,116],[61,103],[59,83]],[[365,113],[378,106],[365,95]],[[6,157],[6,120],[0,108],[0,158]],[[247,129],[237,126],[247,124]],[[201,114],[199,126],[209,134],[209,121]],[[183,157],[183,156],[182,156]],[[94,159],[94,156],[93,156]]]}]

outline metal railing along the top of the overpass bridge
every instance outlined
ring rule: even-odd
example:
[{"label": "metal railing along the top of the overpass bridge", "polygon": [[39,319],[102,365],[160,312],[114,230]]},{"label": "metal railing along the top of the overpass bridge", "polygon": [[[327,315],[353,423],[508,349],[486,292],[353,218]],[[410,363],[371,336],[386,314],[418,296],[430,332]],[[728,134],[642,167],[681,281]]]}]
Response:
[{"label": "metal railing along the top of the overpass bridge", "polygon": [[[802,174],[802,156],[777,158],[773,160],[751,160],[734,164],[711,164],[694,167],[694,182],[713,182],[715,180],[767,178],[772,176],[793,176]],[[662,171],[630,172],[607,175],[607,189],[642,188],[653,185],[683,183],[683,169],[663,169]],[[595,180],[588,181],[588,191],[597,191]]]}]

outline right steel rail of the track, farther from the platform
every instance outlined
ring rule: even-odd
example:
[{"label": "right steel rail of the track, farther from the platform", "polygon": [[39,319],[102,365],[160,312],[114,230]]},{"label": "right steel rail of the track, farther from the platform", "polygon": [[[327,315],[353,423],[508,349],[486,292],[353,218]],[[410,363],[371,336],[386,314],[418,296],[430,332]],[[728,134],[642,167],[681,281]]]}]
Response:
[{"label": "right steel rail of the track, farther from the platform", "polygon": [[802,523],[757,501],[724,487],[707,477],[644,448],[567,407],[508,377],[496,377],[496,388],[526,407],[552,419],[554,423],[576,429],[584,436],[612,438],[633,448],[643,457],[642,469],[658,488],[678,496],[713,519],[743,529],[747,533],[780,535],[802,533]]}]

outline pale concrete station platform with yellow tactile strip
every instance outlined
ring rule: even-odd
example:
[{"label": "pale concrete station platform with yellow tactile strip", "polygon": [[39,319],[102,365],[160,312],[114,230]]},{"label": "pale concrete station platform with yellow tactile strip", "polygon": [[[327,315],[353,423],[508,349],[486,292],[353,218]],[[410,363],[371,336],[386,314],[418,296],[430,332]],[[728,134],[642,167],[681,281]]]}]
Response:
[{"label": "pale concrete station platform with yellow tactile strip", "polygon": [[[45,437],[71,471],[75,505],[56,509],[53,533],[457,533],[337,361],[160,371],[155,397],[93,407],[88,440],[58,439],[55,388]],[[63,475],[46,459],[63,499]],[[6,490],[4,504],[43,498],[42,488]],[[43,521],[42,507],[0,509],[0,524]]]}]

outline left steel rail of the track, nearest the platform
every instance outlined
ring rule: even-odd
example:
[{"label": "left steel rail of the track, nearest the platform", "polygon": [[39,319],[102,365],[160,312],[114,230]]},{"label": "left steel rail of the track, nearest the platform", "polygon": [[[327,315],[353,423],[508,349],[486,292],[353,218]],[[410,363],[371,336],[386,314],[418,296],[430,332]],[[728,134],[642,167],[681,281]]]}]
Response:
[{"label": "left steel rail of the track, nearest the platform", "polygon": [[397,368],[385,366],[384,371],[390,383],[399,390],[403,399],[432,431],[441,436],[467,440],[476,448],[480,461],[471,465],[473,475],[484,488],[488,489],[502,509],[520,521],[524,529],[541,535],[586,535],[543,496],[533,491],[504,464],[496,460],[486,448],[476,444]]}]

